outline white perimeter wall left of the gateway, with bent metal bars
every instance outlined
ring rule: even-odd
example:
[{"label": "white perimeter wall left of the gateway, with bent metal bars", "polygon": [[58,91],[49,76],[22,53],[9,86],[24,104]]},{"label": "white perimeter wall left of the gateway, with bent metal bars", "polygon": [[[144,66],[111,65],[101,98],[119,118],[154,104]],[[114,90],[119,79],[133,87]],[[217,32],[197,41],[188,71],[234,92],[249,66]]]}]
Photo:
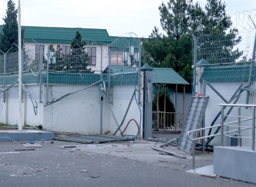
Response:
[{"label": "white perimeter wall left of the gateway, with bent metal bars", "polygon": [[[81,90],[86,86],[87,85],[50,85],[48,101],[53,101],[53,99],[56,100],[67,93]],[[44,129],[47,131],[87,134],[100,133],[101,95],[97,90],[98,85],[91,86],[90,88],[65,97],[61,101],[57,101],[56,103],[46,107],[44,107],[46,104],[46,85],[43,86],[42,90],[42,103],[40,103],[39,98],[39,85],[29,85],[26,87],[38,103],[38,114],[35,116],[29,94],[24,92],[25,99],[22,106],[25,124],[29,124],[31,126],[42,124]],[[118,124],[121,124],[124,118],[124,114],[128,107],[128,103],[130,102],[130,98],[132,97],[133,91],[134,86],[132,85],[113,86],[113,103],[110,105]],[[12,125],[18,124],[18,86],[12,86],[12,88],[8,90],[7,98],[8,99],[6,99],[6,102],[4,103],[3,94],[1,95],[2,110],[0,114],[0,122]],[[109,106],[107,105],[105,98],[103,99],[102,108],[102,131],[103,133],[106,131],[114,133],[117,129],[117,124],[109,110]],[[135,99],[132,100],[130,110],[121,128],[122,131],[131,118],[137,120],[139,124],[140,112]],[[126,129],[124,134],[136,135],[137,131],[138,129],[136,124],[134,122],[130,122],[128,129]],[[117,135],[119,135],[119,131],[117,132]]]}]

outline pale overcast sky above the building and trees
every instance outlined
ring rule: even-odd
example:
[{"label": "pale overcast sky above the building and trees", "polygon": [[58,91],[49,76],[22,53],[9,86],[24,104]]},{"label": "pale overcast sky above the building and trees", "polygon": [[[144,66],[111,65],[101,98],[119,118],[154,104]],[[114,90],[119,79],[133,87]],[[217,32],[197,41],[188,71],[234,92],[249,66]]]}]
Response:
[{"label": "pale overcast sky above the building and trees", "polygon": [[[0,0],[0,18],[5,16],[7,2]],[[18,7],[18,0],[13,2]],[[162,0],[20,0],[21,24],[106,29],[111,36],[133,32],[148,37],[154,26],[160,29],[160,3]],[[206,0],[199,3],[204,7]],[[256,9],[256,0],[226,0],[225,3],[228,14]]]}]

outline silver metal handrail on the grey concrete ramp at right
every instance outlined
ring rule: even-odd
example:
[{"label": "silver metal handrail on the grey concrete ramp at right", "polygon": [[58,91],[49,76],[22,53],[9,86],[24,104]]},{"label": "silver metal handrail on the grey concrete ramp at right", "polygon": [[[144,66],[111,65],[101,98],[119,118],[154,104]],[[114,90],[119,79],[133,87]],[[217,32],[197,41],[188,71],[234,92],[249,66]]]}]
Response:
[{"label": "silver metal handrail on the grey concrete ramp at right", "polygon": [[[217,124],[214,126],[209,126],[209,127],[205,127],[205,128],[201,128],[201,129],[196,129],[193,131],[188,131],[188,139],[190,139],[190,141],[193,141],[193,169],[195,169],[195,146],[196,146],[197,140],[199,140],[199,139],[205,139],[208,137],[216,137],[216,136],[221,135],[221,146],[224,147],[224,135],[225,135],[227,137],[238,138],[238,146],[240,147],[240,146],[242,146],[240,140],[242,138],[249,138],[252,140],[251,149],[252,149],[252,151],[255,151],[255,109],[256,109],[256,105],[220,104],[220,106],[221,106],[221,124]],[[224,110],[226,107],[238,107],[238,115],[236,115],[236,116],[225,115]],[[251,116],[241,116],[241,107],[251,108],[252,115]],[[224,123],[225,120],[227,119],[227,117],[238,118],[238,120]],[[245,125],[241,124],[241,122],[245,122],[248,120],[252,120],[251,126],[245,126]],[[236,125],[233,125],[233,124],[236,124]],[[224,131],[225,126],[227,129],[226,131]],[[213,129],[216,127],[221,127],[221,133],[216,133],[214,135],[207,135],[207,136],[203,136],[203,137],[196,137],[196,135],[199,131]],[[229,127],[233,127],[233,128],[237,128],[237,129],[229,131]],[[242,135],[241,134],[241,131],[248,130],[248,129],[251,129],[251,135],[249,135],[249,134]],[[235,132],[238,133],[237,136],[229,135],[229,133],[235,133]],[[193,137],[190,136],[191,134],[193,134]]]}]

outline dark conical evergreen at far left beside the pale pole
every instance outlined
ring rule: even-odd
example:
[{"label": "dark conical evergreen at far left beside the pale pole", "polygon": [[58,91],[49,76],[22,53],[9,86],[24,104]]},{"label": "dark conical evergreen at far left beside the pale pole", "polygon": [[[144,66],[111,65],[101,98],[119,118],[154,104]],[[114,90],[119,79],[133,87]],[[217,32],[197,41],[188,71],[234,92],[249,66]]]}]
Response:
[{"label": "dark conical evergreen at far left beside the pale pole", "polygon": [[[18,20],[17,20],[18,10],[15,9],[15,3],[9,0],[7,3],[6,15],[3,18],[3,33],[0,33],[0,50],[3,52],[18,51]],[[22,30],[22,38],[24,36],[25,30]],[[17,45],[14,45],[14,43]]]}]

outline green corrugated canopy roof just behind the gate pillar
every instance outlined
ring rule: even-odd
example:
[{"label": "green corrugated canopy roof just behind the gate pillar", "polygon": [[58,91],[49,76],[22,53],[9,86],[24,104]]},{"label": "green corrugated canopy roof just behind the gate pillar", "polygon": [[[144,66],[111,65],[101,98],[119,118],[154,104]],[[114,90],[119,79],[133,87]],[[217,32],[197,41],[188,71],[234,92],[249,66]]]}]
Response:
[{"label": "green corrugated canopy roof just behind the gate pillar", "polygon": [[[104,72],[107,72],[109,67],[106,67]],[[133,72],[137,71],[138,67],[114,66],[111,65],[111,73]],[[153,67],[153,83],[154,84],[189,84],[176,73],[172,68],[156,68]]]}]

